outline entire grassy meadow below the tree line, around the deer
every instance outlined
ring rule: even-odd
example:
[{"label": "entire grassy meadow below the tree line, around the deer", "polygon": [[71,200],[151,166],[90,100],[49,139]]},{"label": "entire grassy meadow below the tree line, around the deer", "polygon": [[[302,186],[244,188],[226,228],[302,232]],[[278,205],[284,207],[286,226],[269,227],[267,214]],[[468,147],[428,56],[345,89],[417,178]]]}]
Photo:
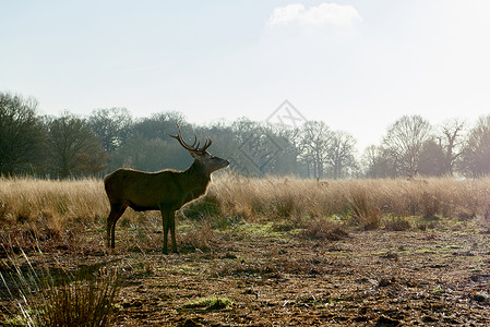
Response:
[{"label": "entire grassy meadow below the tree line, around the deer", "polygon": [[1,324],[490,325],[489,178],[218,173],[170,255],[131,209],[109,251],[108,214],[100,180],[0,179]]}]

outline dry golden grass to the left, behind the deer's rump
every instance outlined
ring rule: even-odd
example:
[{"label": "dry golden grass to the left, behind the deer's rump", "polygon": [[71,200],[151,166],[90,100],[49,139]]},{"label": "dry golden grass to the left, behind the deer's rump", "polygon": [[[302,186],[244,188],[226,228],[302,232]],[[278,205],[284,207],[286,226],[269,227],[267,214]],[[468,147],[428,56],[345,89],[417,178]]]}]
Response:
[{"label": "dry golden grass to the left, behind the deer's rump", "polygon": [[[109,204],[100,180],[1,178],[0,253],[2,246],[28,249],[37,246],[38,241],[76,247],[84,232],[105,228],[108,213]],[[139,221],[142,216],[144,214],[128,210],[120,223]],[[97,243],[104,243],[104,238],[105,233],[100,234]]]}]

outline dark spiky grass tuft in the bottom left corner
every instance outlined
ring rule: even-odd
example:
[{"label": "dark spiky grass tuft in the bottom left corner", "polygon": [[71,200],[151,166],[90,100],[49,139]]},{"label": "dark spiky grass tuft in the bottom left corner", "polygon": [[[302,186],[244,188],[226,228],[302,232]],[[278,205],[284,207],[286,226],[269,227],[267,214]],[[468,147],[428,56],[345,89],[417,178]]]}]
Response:
[{"label": "dark spiky grass tuft in the bottom left corner", "polygon": [[[110,326],[120,289],[119,274],[104,270],[95,276],[84,270],[36,269],[21,250],[24,264],[10,256],[12,270],[0,272],[7,296],[17,312],[7,308],[5,326]],[[3,295],[4,296],[4,295]]]}]

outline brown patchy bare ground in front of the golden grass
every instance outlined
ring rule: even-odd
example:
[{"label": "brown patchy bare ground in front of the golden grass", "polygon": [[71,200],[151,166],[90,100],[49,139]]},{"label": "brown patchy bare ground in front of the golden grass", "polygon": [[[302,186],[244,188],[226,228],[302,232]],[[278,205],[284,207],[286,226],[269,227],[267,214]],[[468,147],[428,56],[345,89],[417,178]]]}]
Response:
[{"label": "brown patchy bare ground in front of the golden grass", "polygon": [[490,325],[483,231],[351,231],[314,241],[241,223],[213,231],[211,243],[168,256],[59,249],[32,257],[121,271],[115,326]]}]

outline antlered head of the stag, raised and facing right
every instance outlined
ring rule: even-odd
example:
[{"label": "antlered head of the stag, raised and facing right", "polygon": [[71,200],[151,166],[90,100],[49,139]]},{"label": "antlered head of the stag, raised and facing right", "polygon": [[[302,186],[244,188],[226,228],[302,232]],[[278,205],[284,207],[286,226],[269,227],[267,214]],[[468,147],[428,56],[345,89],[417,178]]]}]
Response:
[{"label": "antlered head of the stag, raised and facing right", "polygon": [[180,145],[194,158],[194,162],[199,164],[207,174],[211,174],[213,171],[225,168],[229,165],[228,160],[213,156],[206,150],[213,143],[210,137],[206,137],[204,145],[200,147],[201,142],[198,141],[198,136],[194,134],[194,142],[192,145],[189,145],[182,138],[179,124],[176,123],[176,125],[178,130],[177,135],[169,134],[169,136],[179,141]]}]

